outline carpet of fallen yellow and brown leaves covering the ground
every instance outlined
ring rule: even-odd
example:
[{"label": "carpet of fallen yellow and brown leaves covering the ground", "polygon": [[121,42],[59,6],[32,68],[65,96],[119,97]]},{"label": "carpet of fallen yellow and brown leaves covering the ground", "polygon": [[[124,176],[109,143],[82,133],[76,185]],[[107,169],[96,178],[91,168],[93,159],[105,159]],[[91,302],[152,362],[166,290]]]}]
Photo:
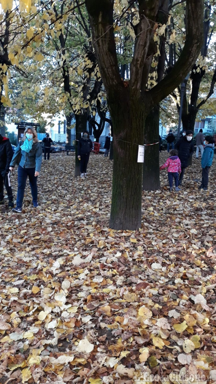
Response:
[{"label": "carpet of fallen yellow and brown leaves covering the ground", "polygon": [[200,192],[193,163],[178,194],[165,171],[161,190],[143,192],[136,232],[108,228],[112,162],[101,155],[80,180],[74,155],[53,154],[39,208],[29,186],[22,215],[0,207],[1,384],[216,381],[216,166]]}]

